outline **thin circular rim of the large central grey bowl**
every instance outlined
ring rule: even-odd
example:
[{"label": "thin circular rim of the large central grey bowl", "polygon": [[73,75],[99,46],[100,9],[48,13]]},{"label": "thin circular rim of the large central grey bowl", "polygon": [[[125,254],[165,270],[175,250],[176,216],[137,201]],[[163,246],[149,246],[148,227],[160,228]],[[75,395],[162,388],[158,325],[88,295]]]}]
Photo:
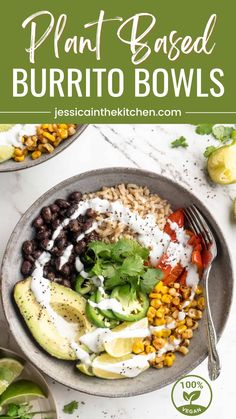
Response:
[{"label": "thin circular rim of the large central grey bowl", "polygon": [[[217,232],[218,232],[218,236],[219,236],[220,242],[221,242],[222,246],[224,246],[224,248],[227,249],[227,253],[228,253],[228,256],[229,256],[229,266],[228,266],[228,268],[230,270],[231,294],[229,296],[229,304],[228,304],[227,307],[225,307],[225,311],[224,311],[224,319],[225,319],[225,321],[224,321],[223,326],[221,327],[221,330],[219,331],[219,333],[217,335],[217,341],[219,341],[220,338],[222,337],[222,334],[223,334],[223,332],[225,330],[225,327],[226,327],[226,324],[228,322],[230,310],[232,308],[233,287],[234,287],[234,271],[233,271],[231,250],[230,250],[230,248],[229,248],[229,246],[228,246],[228,244],[227,244],[227,242],[225,240],[225,237],[223,235],[223,231],[222,231],[221,227],[219,226],[218,222],[215,220],[215,217],[213,217],[211,215],[211,212],[208,210],[208,208],[206,207],[206,205],[204,203],[202,203],[201,200],[192,191],[187,190],[184,186],[182,186],[178,182],[175,182],[174,180],[172,180],[171,178],[169,178],[167,176],[163,176],[163,175],[160,175],[160,174],[155,173],[155,172],[152,172],[152,171],[143,170],[143,169],[139,169],[139,168],[132,168],[132,167],[123,167],[123,166],[107,167],[107,168],[100,168],[100,169],[95,169],[95,170],[89,170],[89,171],[86,171],[86,172],[83,172],[83,173],[74,175],[74,176],[72,176],[70,178],[67,178],[67,179],[59,182],[58,184],[56,184],[53,187],[51,187],[44,194],[42,194],[39,198],[37,198],[35,200],[35,202],[25,211],[25,213],[21,216],[21,218],[19,219],[19,221],[15,225],[15,227],[13,229],[13,232],[12,232],[12,234],[11,234],[9,240],[8,240],[8,243],[7,243],[7,246],[6,246],[6,250],[5,250],[4,255],[3,255],[2,264],[1,264],[1,270],[0,270],[0,294],[1,294],[3,312],[4,312],[5,319],[6,319],[7,323],[8,323],[9,329],[10,329],[10,331],[11,331],[11,333],[12,333],[13,336],[14,336],[14,333],[12,331],[11,321],[8,318],[7,312],[5,310],[4,296],[3,296],[2,290],[3,290],[3,282],[4,282],[3,281],[3,273],[4,273],[5,264],[6,264],[7,258],[8,258],[8,251],[9,251],[9,247],[11,245],[12,237],[14,236],[15,229],[17,228],[18,224],[21,222],[21,220],[22,220],[22,218],[24,216],[26,216],[27,214],[29,214],[35,207],[37,207],[38,205],[40,205],[44,201],[45,198],[47,198],[47,197],[49,197],[51,195],[51,193],[54,190],[62,190],[63,187],[69,185],[70,183],[73,183],[74,180],[83,180],[84,178],[87,178],[89,176],[94,176],[94,175],[97,176],[97,175],[100,175],[100,174],[104,175],[106,173],[111,173],[111,172],[112,173],[118,173],[119,174],[121,171],[127,173],[127,175],[129,175],[129,174],[132,174],[132,175],[139,174],[139,175],[143,175],[143,176],[146,176],[146,177],[154,178],[157,181],[158,181],[158,179],[166,180],[169,183],[171,183],[173,186],[176,186],[177,185],[177,187],[180,190],[182,190],[184,192],[187,191],[189,195],[192,195],[194,197],[195,201],[197,202],[197,204],[200,204],[200,207],[203,207],[204,208],[204,215],[206,215],[206,218],[207,219],[209,217],[210,219],[212,218],[214,220],[214,223],[215,223],[215,226],[217,228]],[[16,341],[17,341],[17,344],[20,347],[20,349],[23,351],[25,357],[28,359],[28,356],[25,354],[24,348],[21,346],[21,343],[18,342],[18,340],[16,340]],[[42,352],[43,352],[43,350],[42,350]],[[198,357],[196,359],[196,361],[191,364],[191,368],[190,367],[186,367],[186,368],[184,368],[181,371],[181,376],[187,375],[192,370],[194,370],[198,365],[200,365],[207,358],[207,355],[208,355],[208,351],[206,350],[202,354],[202,356]],[[35,365],[35,362],[36,361],[35,362],[34,361],[30,361],[30,362]],[[89,394],[89,395],[94,395],[94,396],[98,396],[98,397],[107,397],[106,394],[104,394],[104,393],[102,393],[100,391],[98,392],[97,390],[93,390],[93,387],[90,390],[81,390],[81,389],[76,388],[73,385],[71,385],[71,386],[68,385],[68,382],[67,381],[64,381],[63,379],[60,379],[60,381],[58,381],[58,378],[57,378],[56,374],[54,376],[49,375],[43,369],[43,367],[42,368],[39,367],[39,368],[40,368],[40,370],[44,374],[46,374],[47,376],[49,376],[53,380],[59,382],[60,384],[63,384],[66,387],[69,387],[71,389],[74,389],[74,390],[80,391],[81,393],[85,393],[85,394]],[[173,382],[177,381],[181,376],[180,376],[180,373],[176,373],[176,374],[174,374],[172,376],[171,379],[168,379],[167,378],[166,380],[162,380],[161,385],[155,385],[155,388],[153,388],[153,386],[150,384],[149,387],[148,388],[145,388],[144,390],[138,390],[138,391],[136,391],[136,390],[134,390],[134,391],[133,390],[130,390],[130,392],[128,394],[126,394],[126,393],[124,393],[122,391],[120,393],[116,393],[116,394],[112,394],[112,395],[109,394],[109,398],[133,397],[133,396],[138,396],[138,395],[142,395],[142,394],[147,394],[147,393],[150,393],[150,392],[159,390],[161,388],[166,387],[167,385],[172,384]],[[101,383],[102,383],[102,379],[101,379]]]}]

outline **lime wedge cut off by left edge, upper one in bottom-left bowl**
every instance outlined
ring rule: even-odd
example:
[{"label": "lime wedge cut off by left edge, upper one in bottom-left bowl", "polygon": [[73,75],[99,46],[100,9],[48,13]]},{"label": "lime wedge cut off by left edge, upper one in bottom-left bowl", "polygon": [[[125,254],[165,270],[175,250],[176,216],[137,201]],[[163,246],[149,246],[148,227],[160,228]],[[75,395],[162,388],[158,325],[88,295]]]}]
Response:
[{"label": "lime wedge cut off by left edge, upper one in bottom-left bowl", "polygon": [[0,359],[0,395],[22,373],[24,366],[13,358]]}]

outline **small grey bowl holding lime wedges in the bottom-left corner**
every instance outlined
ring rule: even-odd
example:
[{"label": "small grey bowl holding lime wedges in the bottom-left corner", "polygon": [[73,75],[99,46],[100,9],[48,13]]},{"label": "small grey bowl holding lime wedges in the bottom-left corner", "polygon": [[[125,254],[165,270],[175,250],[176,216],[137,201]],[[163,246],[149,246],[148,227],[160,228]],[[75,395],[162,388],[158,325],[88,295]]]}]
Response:
[{"label": "small grey bowl holding lime wedges in the bottom-left corner", "polygon": [[30,402],[30,404],[32,404],[33,406],[34,411],[51,412],[47,416],[50,417],[51,419],[57,419],[58,416],[57,416],[57,408],[56,408],[55,400],[53,398],[53,395],[50,391],[50,388],[46,380],[39,373],[39,371],[29,361],[22,358],[21,355],[16,354],[15,352],[10,351],[9,349],[0,347],[0,358],[4,358],[4,357],[14,358],[17,361],[24,364],[24,370],[18,379],[23,378],[26,380],[34,381],[41,387],[44,394],[47,396],[46,399],[35,399],[32,402]]}]

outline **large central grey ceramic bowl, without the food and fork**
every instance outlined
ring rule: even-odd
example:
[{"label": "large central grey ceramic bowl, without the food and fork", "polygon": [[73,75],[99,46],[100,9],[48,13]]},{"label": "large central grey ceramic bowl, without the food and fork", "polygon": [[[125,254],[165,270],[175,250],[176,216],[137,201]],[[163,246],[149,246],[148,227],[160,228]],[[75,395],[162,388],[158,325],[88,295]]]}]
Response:
[{"label": "large central grey ceramic bowl, without the food and fork", "polygon": [[[150,368],[133,379],[106,381],[87,377],[76,372],[73,364],[53,359],[34,341],[25,327],[12,302],[12,290],[21,279],[21,244],[31,238],[31,222],[40,208],[52,203],[56,198],[64,198],[75,190],[92,192],[102,186],[119,183],[146,185],[154,193],[169,200],[173,208],[185,207],[195,203],[211,224],[218,243],[219,256],[214,263],[210,277],[210,303],[218,337],[220,337],[228,318],[232,298],[233,273],[229,251],[224,236],[208,209],[189,191],[175,182],[142,170],[127,168],[109,168],[87,172],[65,180],[39,198],[24,214],[17,224],[2,265],[2,299],[9,327],[16,341],[30,360],[53,379],[76,390],[107,397],[134,396],[166,386],[184,374],[189,373],[207,356],[206,327],[204,320],[194,334],[191,350],[187,356],[177,355],[172,368],[155,370]],[[225,281],[227,278],[227,281]]]}]

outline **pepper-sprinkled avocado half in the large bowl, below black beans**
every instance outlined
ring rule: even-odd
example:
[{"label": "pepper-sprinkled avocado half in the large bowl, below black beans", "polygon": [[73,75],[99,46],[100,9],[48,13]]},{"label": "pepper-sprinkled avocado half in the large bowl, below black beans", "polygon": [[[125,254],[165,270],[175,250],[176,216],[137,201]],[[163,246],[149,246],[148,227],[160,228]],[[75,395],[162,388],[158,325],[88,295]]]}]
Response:
[{"label": "pepper-sprinkled avocado half in the large bowl, below black beans", "polygon": [[[52,309],[68,321],[73,323],[76,330],[75,343],[79,344],[80,336],[90,332],[93,328],[86,318],[86,300],[70,288],[50,282]],[[76,360],[71,342],[60,334],[53,319],[41,304],[37,302],[31,291],[31,278],[18,282],[14,288],[14,299],[35,340],[53,357],[64,360]]]}]

